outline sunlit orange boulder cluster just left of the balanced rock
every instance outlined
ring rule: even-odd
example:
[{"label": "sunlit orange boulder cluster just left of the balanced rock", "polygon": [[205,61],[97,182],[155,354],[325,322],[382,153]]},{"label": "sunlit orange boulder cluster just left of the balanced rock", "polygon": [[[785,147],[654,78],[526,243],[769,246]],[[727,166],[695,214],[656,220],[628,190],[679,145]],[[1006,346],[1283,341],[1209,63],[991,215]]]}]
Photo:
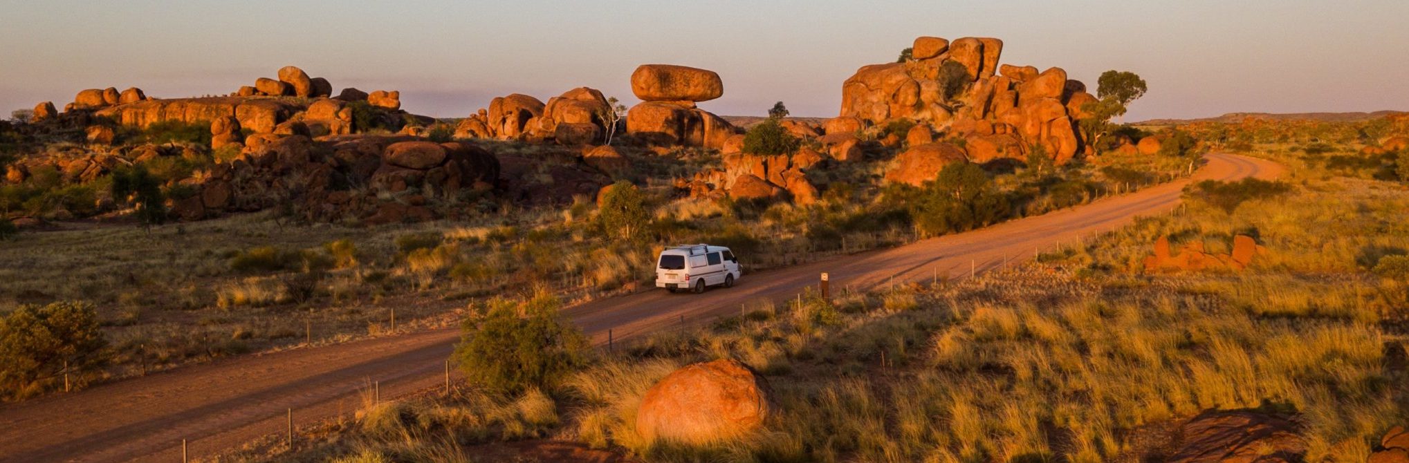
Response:
[{"label": "sunlit orange boulder cluster just left of the balanced rock", "polygon": [[509,94],[489,101],[455,127],[457,137],[590,145],[604,139],[614,124],[613,108],[602,91],[578,87],[548,99]]}]

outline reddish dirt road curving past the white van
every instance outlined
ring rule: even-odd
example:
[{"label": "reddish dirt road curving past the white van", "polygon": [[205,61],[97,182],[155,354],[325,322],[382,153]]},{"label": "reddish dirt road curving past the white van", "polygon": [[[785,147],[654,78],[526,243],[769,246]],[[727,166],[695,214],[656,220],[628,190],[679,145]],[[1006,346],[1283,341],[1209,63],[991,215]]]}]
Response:
[{"label": "reddish dirt road curving past the white van", "polygon": [[[1271,179],[1274,162],[1209,155],[1196,180]],[[968,276],[1030,259],[1036,249],[1122,227],[1136,215],[1172,210],[1191,180],[1154,186],[1086,205],[1009,221],[958,235],[747,274],[728,290],[703,296],[662,290],[606,298],[564,310],[596,342],[645,334],[685,319],[737,314],[744,303],[785,300],[830,273],[834,288]],[[263,435],[282,433],[286,411],[296,424],[348,414],[372,380],[383,397],[442,384],[444,362],[458,331],[438,329],[341,345],[244,356],[103,384],[73,394],[0,407],[0,462],[179,462],[182,439],[192,457],[218,453]]]}]

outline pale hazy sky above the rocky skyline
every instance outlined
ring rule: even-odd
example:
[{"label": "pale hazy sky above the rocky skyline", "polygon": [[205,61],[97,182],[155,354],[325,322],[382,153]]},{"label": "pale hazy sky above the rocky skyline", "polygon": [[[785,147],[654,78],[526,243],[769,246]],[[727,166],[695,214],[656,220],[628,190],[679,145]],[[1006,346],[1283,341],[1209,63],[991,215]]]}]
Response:
[{"label": "pale hazy sky above the rocky skyline", "polygon": [[920,35],[996,37],[1000,62],[1107,69],[1150,91],[1126,120],[1409,110],[1409,1],[17,1],[0,0],[0,117],[83,89],[225,94],[296,65],[464,117],[579,86],[627,104],[643,63],[704,68],[723,115],[834,117],[857,68]]}]

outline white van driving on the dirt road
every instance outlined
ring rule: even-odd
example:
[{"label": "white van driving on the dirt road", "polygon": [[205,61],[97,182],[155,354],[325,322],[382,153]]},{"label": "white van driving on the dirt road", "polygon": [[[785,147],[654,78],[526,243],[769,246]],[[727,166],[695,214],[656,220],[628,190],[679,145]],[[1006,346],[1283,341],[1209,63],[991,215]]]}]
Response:
[{"label": "white van driving on the dirt road", "polygon": [[655,287],[671,293],[690,288],[704,293],[706,286],[734,286],[740,277],[738,258],[724,246],[685,245],[661,250],[655,265]]}]

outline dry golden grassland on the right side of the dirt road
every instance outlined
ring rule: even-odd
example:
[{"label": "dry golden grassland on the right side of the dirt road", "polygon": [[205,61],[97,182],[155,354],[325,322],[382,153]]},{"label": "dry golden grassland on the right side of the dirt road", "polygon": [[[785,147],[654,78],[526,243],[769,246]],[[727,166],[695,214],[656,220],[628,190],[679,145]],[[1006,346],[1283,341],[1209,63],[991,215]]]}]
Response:
[{"label": "dry golden grassland on the right side of the dirt road", "polygon": [[[299,452],[255,443],[235,457],[455,460],[500,440],[558,439],[648,462],[1162,460],[1169,429],[1191,417],[1250,410],[1295,417],[1305,460],[1364,462],[1409,417],[1409,191],[1286,146],[1246,151],[1286,163],[1278,182],[1192,184],[1175,214],[1027,266],[757,301],[707,326],[586,352],[561,381],[471,381],[368,404],[311,429],[316,443]],[[1234,235],[1265,248],[1243,272],[1144,270],[1161,236],[1227,252]],[[540,303],[523,294],[517,307]],[[650,386],[726,357],[769,380],[779,414],[764,431],[703,448],[637,436]]]}]

